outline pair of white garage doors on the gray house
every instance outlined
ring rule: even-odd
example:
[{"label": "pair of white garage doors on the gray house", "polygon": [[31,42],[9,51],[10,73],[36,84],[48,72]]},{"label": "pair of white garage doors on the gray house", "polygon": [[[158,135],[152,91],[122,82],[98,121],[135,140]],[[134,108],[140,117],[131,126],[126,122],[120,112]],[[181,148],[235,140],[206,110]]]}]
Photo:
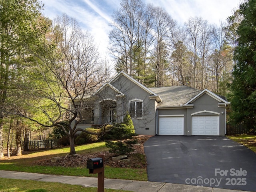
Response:
[{"label": "pair of white garage doors on the gray house", "polygon": [[[192,116],[192,135],[220,135],[219,116]],[[184,115],[159,116],[159,135],[186,135],[184,134]]]}]

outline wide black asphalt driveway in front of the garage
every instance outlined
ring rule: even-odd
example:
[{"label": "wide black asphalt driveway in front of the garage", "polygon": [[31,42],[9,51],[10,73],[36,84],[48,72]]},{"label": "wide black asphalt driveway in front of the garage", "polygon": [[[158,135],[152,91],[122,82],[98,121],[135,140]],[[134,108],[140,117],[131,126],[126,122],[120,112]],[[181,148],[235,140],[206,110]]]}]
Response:
[{"label": "wide black asphalt driveway in front of the garage", "polygon": [[225,136],[154,136],[148,180],[256,191],[256,153]]}]

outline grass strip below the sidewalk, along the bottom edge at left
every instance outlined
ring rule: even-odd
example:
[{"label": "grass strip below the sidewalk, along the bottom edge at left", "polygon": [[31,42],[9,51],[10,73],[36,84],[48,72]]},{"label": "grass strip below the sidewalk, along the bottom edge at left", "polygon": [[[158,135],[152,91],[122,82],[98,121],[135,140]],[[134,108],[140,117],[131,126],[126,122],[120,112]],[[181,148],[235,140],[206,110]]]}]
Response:
[{"label": "grass strip below the sidewalk, along the bottom edge at left", "polygon": [[[95,187],[41,182],[32,180],[0,178],[0,192],[97,192]],[[105,192],[128,192],[124,190],[104,189]]]}]

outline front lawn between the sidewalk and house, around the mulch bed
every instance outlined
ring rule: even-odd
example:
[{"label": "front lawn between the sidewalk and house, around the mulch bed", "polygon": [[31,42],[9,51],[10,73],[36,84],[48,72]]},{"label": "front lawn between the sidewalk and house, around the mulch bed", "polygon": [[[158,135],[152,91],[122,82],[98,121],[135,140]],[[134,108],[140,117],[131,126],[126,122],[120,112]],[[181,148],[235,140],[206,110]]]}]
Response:
[{"label": "front lawn between the sidewalk and house, around the mulch bed", "polygon": [[[54,175],[97,177],[97,174],[89,174],[89,170],[86,167],[40,166],[34,163],[36,160],[43,158],[65,156],[69,154],[69,150],[69,147],[64,147],[53,150],[34,151],[29,154],[23,154],[21,157],[13,157],[14,159],[3,158],[0,162],[0,169]],[[76,153],[78,154],[104,153],[107,150],[105,142],[76,146]],[[139,168],[113,168],[105,166],[104,175],[105,178],[113,179],[148,180],[146,169]]]}]

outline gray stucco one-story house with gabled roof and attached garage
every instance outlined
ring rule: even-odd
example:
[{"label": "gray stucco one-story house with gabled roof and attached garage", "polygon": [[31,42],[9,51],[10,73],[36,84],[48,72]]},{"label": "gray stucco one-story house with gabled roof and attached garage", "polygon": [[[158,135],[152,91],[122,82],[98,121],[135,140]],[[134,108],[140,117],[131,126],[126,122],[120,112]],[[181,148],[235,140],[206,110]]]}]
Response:
[{"label": "gray stucco one-story house with gabled roof and attached garage", "polygon": [[94,107],[80,128],[122,122],[129,113],[141,135],[225,135],[224,97],[187,86],[146,88],[124,72],[94,95]]}]

